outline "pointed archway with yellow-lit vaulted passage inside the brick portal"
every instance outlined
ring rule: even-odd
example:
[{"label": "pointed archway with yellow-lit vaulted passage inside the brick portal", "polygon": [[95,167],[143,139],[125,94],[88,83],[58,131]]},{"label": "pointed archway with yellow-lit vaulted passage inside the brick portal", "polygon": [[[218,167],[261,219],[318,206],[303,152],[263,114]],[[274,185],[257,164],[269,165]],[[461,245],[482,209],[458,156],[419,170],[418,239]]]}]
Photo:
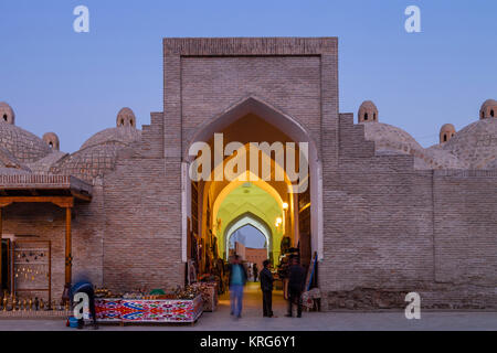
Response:
[{"label": "pointed archway with yellow-lit vaulted passage inside the brick portal", "polygon": [[251,224],[275,267],[288,248],[322,256],[321,168],[310,133],[256,97],[200,126],[183,151],[183,259],[209,272]]}]

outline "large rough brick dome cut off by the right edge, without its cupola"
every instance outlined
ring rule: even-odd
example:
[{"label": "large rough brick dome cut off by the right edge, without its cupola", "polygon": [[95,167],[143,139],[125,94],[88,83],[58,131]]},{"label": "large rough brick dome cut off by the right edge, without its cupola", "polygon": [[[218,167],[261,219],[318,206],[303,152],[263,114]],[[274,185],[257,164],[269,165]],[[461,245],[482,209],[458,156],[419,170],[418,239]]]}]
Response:
[{"label": "large rough brick dome cut off by the right edge, without its cupola", "polygon": [[487,168],[497,157],[497,119],[475,121],[443,146],[470,169]]}]

